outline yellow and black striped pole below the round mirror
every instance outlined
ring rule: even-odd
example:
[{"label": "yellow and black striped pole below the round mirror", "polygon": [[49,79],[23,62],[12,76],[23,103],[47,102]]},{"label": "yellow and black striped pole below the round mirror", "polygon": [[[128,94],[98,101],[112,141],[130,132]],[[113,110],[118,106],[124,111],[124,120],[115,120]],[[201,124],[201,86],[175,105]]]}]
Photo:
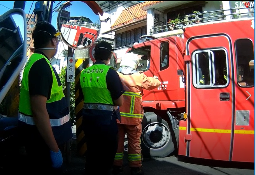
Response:
[{"label": "yellow and black striped pole below the round mirror", "polygon": [[[82,46],[83,47],[83,46]],[[83,156],[87,150],[82,130],[82,107],[84,98],[79,90],[80,74],[83,69],[89,67],[89,49],[75,50],[75,127],[76,127],[76,142],[79,155]]]}]

